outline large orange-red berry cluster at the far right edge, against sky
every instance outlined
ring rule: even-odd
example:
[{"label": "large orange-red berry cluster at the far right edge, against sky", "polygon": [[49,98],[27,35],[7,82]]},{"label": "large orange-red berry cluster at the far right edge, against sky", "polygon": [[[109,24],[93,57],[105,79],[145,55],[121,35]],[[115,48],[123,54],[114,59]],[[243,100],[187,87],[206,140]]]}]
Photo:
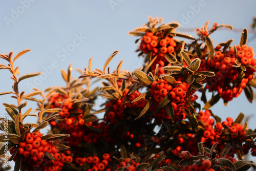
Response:
[{"label": "large orange-red berry cluster at the far right edge, against sky", "polygon": [[[255,70],[250,67],[256,67],[256,60],[253,58],[254,53],[252,47],[247,45],[238,45],[236,49],[230,48],[228,52],[222,53],[217,51],[212,59],[201,59],[200,68],[198,71],[213,71],[215,76],[207,78],[205,89],[209,91],[218,91],[225,101],[232,100],[233,97],[238,97],[246,87],[248,81],[253,78]],[[239,79],[241,73],[240,67],[244,67],[245,76],[234,84]],[[230,83],[233,83],[231,86]],[[226,86],[224,88],[224,85]],[[224,90],[224,89],[225,90]]]}]

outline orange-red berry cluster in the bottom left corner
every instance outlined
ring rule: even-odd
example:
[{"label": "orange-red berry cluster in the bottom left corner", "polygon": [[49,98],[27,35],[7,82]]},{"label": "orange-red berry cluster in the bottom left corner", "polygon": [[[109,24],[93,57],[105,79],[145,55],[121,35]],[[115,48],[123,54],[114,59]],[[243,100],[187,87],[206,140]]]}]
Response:
[{"label": "orange-red berry cluster in the bottom left corner", "polygon": [[[66,161],[72,162],[73,158],[65,153],[60,153],[58,148],[51,143],[41,139],[40,132],[27,133],[25,140],[18,144],[18,154],[22,155],[22,164],[26,168],[44,168],[44,170],[60,170]],[[47,154],[54,159],[50,159]],[[17,155],[14,157],[16,161]]]}]

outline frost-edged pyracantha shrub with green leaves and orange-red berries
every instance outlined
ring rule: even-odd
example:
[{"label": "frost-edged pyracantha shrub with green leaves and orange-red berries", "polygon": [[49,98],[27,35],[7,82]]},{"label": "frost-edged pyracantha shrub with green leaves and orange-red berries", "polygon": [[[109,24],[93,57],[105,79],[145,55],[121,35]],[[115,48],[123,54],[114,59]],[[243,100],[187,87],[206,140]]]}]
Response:
[{"label": "frost-edged pyracantha shrub with green leaves and orange-red berries", "polygon": [[[19,91],[19,82],[40,72],[18,76],[13,52],[0,54],[11,72],[11,94],[17,104],[3,103],[7,114],[1,118],[0,167],[5,158],[15,161],[14,170],[167,171],[256,169],[244,156],[256,155],[256,130],[251,130],[240,113],[225,121],[209,108],[221,98],[227,104],[244,91],[252,102],[256,87],[256,60],[246,45],[244,29],[239,45],[232,39],[216,47],[210,39],[220,27],[208,22],[196,30],[196,37],[178,33],[178,23],[149,22],[129,32],[138,36],[138,56],[143,66],[132,72],[122,70],[123,61],[111,71],[88,68],[72,77],[72,66],[61,70],[65,87],[45,91]],[[92,80],[102,80],[101,86]],[[206,93],[212,98],[207,101]],[[98,102],[97,97],[104,98]],[[38,108],[24,111],[28,102]],[[203,110],[198,100],[204,102]],[[100,109],[95,109],[95,104]],[[103,117],[98,117],[102,113]],[[36,117],[36,123],[26,123]],[[42,129],[50,126],[48,134]],[[8,139],[8,143],[6,143]],[[6,144],[4,144],[6,143]],[[7,151],[11,156],[8,156]]]}]

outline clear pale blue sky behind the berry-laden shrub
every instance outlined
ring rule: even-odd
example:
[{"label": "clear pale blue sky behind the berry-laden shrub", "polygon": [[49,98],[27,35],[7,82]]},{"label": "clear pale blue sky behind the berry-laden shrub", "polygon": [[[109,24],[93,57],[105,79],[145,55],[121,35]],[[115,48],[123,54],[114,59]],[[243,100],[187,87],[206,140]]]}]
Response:
[{"label": "clear pale blue sky behind the berry-laden shrub", "polygon": [[[20,75],[41,71],[39,78],[30,78],[20,83],[20,91],[29,93],[31,87],[45,90],[50,86],[65,86],[60,70],[88,66],[93,58],[92,68],[103,68],[104,62],[115,51],[120,52],[110,63],[115,69],[124,60],[122,69],[134,70],[142,66],[134,44],[137,37],[127,32],[142,26],[148,16],[164,17],[163,22],[177,21],[178,31],[188,29],[188,34],[203,26],[209,20],[210,26],[228,24],[235,31],[220,30],[211,38],[216,46],[220,42],[234,39],[239,44],[241,31],[252,23],[256,1],[140,1],[140,0],[94,0],[94,1],[0,1],[0,53],[7,54],[31,49],[16,60]],[[192,29],[191,29],[192,28]],[[239,32],[237,32],[237,30]],[[256,50],[255,35],[248,35],[248,45]],[[255,39],[254,39],[255,38]],[[0,63],[5,63],[0,60]],[[0,71],[0,92],[11,91],[13,81],[8,71]],[[73,72],[78,77],[78,72]],[[254,89],[255,91],[255,89]],[[9,95],[0,96],[0,103],[16,104]],[[97,105],[97,104],[96,104]],[[29,107],[36,104],[29,102]],[[240,112],[251,116],[249,127],[256,128],[256,105],[250,104],[244,93],[227,106],[219,101],[212,111],[226,118],[236,118]],[[1,116],[6,113],[0,105]],[[34,119],[34,118],[31,118]]]}]

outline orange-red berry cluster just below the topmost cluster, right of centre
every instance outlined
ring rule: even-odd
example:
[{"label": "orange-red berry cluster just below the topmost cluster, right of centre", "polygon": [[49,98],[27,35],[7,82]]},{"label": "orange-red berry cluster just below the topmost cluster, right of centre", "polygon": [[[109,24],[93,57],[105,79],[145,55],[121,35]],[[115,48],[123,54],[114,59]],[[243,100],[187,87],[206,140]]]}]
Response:
[{"label": "orange-red berry cluster just below the topmost cluster, right of centre", "polygon": [[[159,79],[158,81],[153,81],[150,89],[151,95],[154,97],[154,103],[151,108],[152,111],[156,111],[159,103],[163,100],[165,96],[171,99],[171,104],[174,110],[175,121],[186,119],[185,109],[189,108],[188,101],[195,101],[198,97],[193,96],[195,91],[189,90],[189,84],[182,81],[175,81],[170,84],[168,81]],[[163,118],[170,119],[167,115],[165,109],[161,109],[159,112],[155,113],[155,117],[158,121]]]}]

